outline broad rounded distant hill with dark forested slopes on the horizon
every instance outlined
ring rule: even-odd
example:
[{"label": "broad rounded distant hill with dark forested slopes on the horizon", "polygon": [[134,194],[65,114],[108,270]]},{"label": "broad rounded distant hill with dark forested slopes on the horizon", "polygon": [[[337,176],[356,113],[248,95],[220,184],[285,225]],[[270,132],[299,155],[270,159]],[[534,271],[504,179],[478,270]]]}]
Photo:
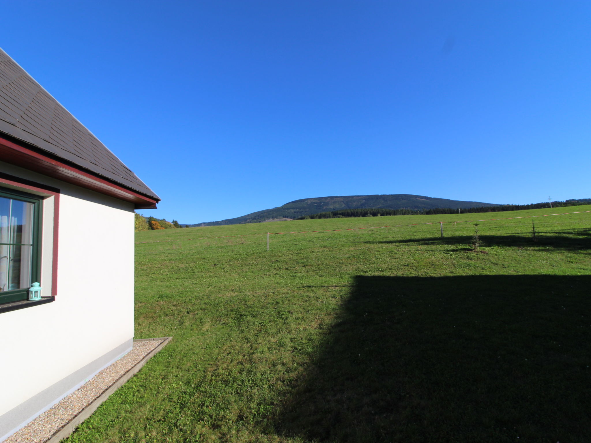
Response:
[{"label": "broad rounded distant hill with dark forested slopes on the horizon", "polygon": [[241,224],[269,222],[277,219],[297,219],[320,212],[336,211],[343,209],[383,208],[383,209],[432,209],[432,208],[471,208],[482,206],[499,206],[495,203],[482,203],[482,201],[448,200],[447,198],[434,198],[425,196],[413,196],[411,194],[376,194],[374,196],[332,196],[302,198],[290,201],[283,206],[246,214],[235,219],[219,220],[219,222],[206,222],[187,224],[184,226],[220,226],[222,224]]}]

